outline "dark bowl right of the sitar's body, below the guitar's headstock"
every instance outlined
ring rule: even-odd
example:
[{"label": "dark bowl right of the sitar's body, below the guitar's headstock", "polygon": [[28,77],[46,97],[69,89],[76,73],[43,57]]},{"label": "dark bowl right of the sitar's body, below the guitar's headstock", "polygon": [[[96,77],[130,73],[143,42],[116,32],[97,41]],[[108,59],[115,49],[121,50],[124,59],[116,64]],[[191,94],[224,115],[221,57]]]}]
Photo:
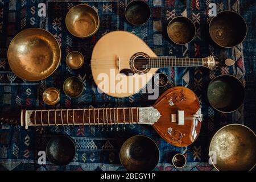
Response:
[{"label": "dark bowl right of the sitar's body, below the guitar's headstock", "polygon": [[210,105],[222,112],[236,111],[242,104],[245,89],[240,80],[233,75],[220,75],[210,81],[207,97]]}]

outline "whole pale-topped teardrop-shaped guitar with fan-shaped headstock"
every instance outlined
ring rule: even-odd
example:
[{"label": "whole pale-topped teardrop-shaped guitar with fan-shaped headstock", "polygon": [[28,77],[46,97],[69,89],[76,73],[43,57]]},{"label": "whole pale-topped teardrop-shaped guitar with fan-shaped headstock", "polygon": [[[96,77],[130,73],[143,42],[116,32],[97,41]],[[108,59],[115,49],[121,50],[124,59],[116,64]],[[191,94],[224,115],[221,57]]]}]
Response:
[{"label": "whole pale-topped teardrop-shaped guitar with fan-shaped headstock", "polygon": [[139,92],[159,68],[217,69],[218,64],[218,56],[214,55],[204,58],[157,56],[143,40],[127,31],[102,36],[93,48],[90,61],[98,89],[113,97],[129,97]]}]

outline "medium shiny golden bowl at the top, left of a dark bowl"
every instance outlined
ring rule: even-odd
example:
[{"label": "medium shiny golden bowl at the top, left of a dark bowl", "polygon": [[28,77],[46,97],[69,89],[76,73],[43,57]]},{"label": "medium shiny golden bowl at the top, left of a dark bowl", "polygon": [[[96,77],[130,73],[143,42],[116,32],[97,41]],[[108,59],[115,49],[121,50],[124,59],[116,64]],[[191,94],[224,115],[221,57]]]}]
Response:
[{"label": "medium shiny golden bowl at the top, left of a dark bowl", "polygon": [[77,5],[68,11],[65,19],[68,31],[78,38],[88,38],[100,27],[97,11],[88,5]]}]

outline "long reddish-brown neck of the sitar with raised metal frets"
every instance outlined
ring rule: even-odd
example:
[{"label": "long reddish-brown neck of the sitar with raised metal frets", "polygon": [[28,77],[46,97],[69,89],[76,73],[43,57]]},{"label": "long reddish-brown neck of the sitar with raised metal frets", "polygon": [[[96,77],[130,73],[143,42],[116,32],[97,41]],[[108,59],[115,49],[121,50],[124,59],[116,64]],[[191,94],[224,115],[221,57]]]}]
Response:
[{"label": "long reddish-brown neck of the sitar with raised metal frets", "polygon": [[[21,125],[64,126],[64,125],[118,125],[152,124],[143,119],[143,111],[153,107],[112,107],[98,109],[26,110],[21,114]],[[141,116],[140,116],[141,113]]]}]

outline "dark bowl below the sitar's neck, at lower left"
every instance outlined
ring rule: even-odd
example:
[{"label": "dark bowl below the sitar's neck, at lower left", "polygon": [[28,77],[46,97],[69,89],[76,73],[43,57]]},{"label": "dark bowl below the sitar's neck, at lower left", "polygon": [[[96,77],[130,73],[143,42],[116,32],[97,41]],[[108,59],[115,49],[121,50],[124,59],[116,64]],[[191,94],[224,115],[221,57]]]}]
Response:
[{"label": "dark bowl below the sitar's neck, at lower left", "polygon": [[75,142],[65,135],[59,135],[49,140],[46,146],[48,160],[58,166],[64,166],[72,162],[76,155]]}]

